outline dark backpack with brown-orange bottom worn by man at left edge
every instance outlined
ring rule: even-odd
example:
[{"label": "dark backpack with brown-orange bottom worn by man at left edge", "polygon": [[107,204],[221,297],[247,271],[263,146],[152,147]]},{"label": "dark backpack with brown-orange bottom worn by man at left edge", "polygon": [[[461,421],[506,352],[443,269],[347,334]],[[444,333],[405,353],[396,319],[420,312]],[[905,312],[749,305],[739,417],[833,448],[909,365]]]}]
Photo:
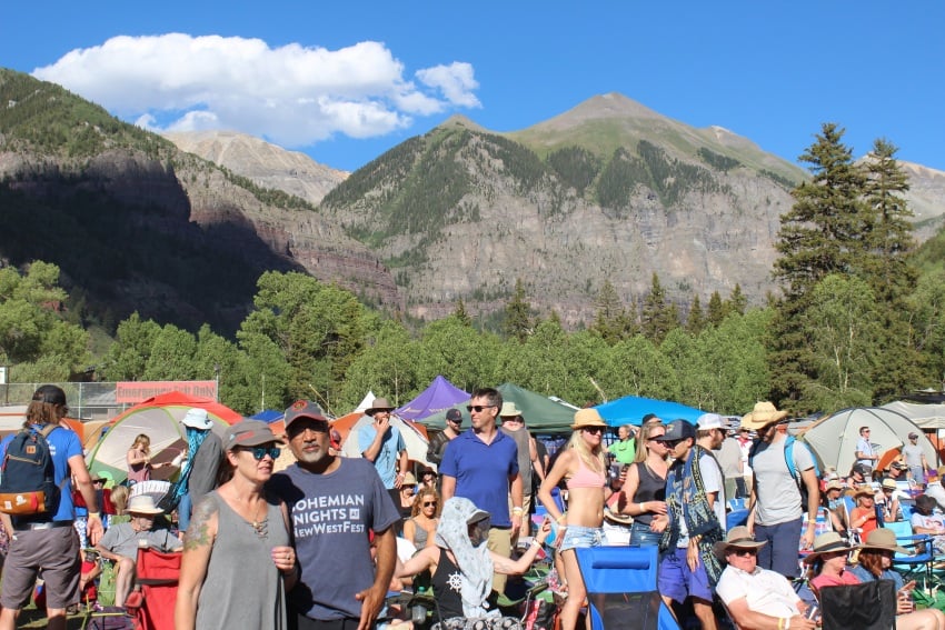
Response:
[{"label": "dark backpack with brown-orange bottom worn by man at left edge", "polygon": [[[0,477],[0,512],[14,516],[54,513],[61,488],[47,437],[58,427],[40,431],[23,429],[7,446]],[[66,476],[63,484],[69,480]]]}]

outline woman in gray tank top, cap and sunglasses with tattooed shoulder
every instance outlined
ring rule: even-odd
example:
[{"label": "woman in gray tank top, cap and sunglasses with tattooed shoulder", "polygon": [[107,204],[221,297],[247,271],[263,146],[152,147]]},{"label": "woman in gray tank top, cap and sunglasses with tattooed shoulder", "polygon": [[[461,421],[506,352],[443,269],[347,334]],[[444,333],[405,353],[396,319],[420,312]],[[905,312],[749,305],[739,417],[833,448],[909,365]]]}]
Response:
[{"label": "woman in gray tank top, cap and sunglasses with tattooed shoulder", "polygon": [[193,510],[183,541],[175,608],[177,630],[286,627],[286,591],[298,579],[285,503],[263,484],[279,457],[265,422],[227,429],[223,466],[229,481]]}]

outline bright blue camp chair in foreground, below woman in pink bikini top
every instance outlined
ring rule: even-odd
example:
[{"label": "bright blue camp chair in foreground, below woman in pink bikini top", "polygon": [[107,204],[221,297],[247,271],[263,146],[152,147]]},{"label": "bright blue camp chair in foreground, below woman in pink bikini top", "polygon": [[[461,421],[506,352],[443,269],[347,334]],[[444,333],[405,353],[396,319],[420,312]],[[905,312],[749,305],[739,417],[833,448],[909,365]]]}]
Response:
[{"label": "bright blue camp chair in foreground, below woman in pink bikini top", "polygon": [[654,547],[575,549],[587,588],[591,630],[679,630],[656,588],[659,550]]}]

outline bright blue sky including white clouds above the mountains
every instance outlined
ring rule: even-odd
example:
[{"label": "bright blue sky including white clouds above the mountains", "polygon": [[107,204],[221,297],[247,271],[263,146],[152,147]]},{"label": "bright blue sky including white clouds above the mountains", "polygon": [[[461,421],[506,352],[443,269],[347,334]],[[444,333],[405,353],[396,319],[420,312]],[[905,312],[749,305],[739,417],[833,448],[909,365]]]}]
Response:
[{"label": "bright blue sky including white clouds above the mountains", "polygon": [[[945,3],[8,2],[0,66],[153,129],[354,170],[452,113],[514,131],[619,92],[789,161],[825,121],[945,170]],[[177,34],[175,34],[177,33]]]}]

